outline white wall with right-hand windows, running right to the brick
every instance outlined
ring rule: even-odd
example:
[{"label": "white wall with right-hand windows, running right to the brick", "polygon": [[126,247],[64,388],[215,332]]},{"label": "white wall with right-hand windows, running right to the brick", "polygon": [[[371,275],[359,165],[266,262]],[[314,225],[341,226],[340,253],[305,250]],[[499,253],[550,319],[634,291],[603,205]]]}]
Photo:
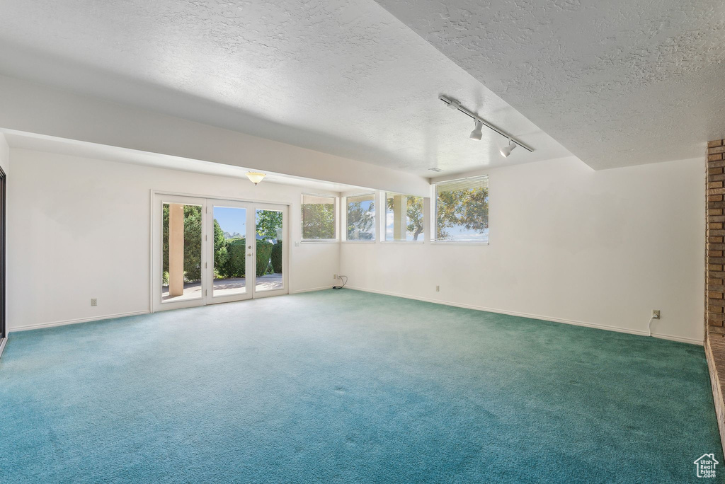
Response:
[{"label": "white wall with right-hand windows, running right to the brick", "polygon": [[654,333],[702,343],[703,170],[573,158],[488,170],[489,246],[344,243],[341,274],[352,288],[631,333],[660,309]]}]

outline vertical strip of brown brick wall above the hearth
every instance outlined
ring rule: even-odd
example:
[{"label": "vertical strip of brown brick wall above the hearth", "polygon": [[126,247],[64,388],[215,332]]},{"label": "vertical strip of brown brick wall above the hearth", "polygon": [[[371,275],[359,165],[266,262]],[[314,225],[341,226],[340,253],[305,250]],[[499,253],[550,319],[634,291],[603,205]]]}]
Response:
[{"label": "vertical strip of brown brick wall above the hearth", "polygon": [[705,332],[725,337],[725,140],[708,143],[705,249]]}]

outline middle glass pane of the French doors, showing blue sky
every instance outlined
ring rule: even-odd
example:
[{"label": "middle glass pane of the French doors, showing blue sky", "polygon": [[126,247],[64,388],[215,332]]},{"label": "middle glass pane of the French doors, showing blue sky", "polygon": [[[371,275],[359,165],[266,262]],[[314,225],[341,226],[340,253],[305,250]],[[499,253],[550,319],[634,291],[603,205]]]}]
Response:
[{"label": "middle glass pane of the French doors, showing blue sky", "polygon": [[247,293],[247,209],[214,207],[212,296]]}]

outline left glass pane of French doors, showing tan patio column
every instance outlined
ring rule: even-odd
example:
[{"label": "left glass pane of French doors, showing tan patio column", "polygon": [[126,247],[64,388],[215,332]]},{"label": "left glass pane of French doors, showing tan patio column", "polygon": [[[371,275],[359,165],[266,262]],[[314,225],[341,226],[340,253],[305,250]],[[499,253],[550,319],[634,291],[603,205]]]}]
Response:
[{"label": "left glass pane of French doors, showing tan patio column", "polygon": [[162,302],[202,297],[202,206],[162,204]]}]

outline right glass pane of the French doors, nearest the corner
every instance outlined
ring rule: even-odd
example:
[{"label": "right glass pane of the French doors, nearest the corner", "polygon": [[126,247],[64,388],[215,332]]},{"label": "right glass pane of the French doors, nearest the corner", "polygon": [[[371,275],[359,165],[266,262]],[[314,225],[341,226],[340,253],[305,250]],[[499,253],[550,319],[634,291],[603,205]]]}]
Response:
[{"label": "right glass pane of the French doors, nearest the corner", "polygon": [[257,284],[255,291],[283,288],[282,247],[283,228],[281,210],[257,209]]}]

